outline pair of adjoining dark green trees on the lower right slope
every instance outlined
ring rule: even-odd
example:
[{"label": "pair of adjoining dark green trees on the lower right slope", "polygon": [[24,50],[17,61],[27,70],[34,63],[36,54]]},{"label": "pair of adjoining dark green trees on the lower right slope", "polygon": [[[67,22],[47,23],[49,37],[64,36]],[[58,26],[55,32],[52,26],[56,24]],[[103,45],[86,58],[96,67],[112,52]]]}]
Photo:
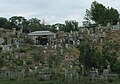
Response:
[{"label": "pair of adjoining dark green trees on the lower right slope", "polygon": [[110,65],[111,70],[117,61],[119,44],[116,41],[110,41],[103,45],[99,50],[94,44],[90,42],[81,43],[80,63],[86,68],[95,67],[98,69],[107,68]]}]

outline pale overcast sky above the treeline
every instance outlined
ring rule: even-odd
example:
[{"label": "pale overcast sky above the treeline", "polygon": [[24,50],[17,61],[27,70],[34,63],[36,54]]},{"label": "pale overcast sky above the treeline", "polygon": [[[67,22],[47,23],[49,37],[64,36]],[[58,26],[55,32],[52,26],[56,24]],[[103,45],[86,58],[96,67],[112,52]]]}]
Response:
[{"label": "pale overcast sky above the treeline", "polygon": [[[95,0],[0,0],[0,17],[38,18],[46,24],[76,20],[82,24],[85,10]],[[120,12],[120,0],[96,0]]]}]

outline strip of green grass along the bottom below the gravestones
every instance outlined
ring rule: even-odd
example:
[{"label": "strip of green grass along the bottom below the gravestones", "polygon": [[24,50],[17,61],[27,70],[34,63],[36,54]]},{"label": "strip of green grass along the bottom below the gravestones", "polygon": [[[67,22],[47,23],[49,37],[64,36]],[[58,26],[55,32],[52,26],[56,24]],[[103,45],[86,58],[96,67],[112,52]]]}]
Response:
[{"label": "strip of green grass along the bottom below the gravestones", "polygon": [[98,80],[90,81],[88,79],[82,80],[51,80],[51,81],[39,81],[34,77],[17,79],[17,78],[0,78],[0,84],[120,84],[119,79],[110,78],[108,81]]}]

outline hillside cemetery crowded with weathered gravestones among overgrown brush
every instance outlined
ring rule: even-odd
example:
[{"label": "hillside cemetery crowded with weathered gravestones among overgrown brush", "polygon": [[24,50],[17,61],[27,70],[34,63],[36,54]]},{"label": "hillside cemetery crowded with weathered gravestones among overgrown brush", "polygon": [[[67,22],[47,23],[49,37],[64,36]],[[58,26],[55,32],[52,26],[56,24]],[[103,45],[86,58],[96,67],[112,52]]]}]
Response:
[{"label": "hillside cemetery crowded with weathered gravestones among overgrown brush", "polygon": [[[74,82],[85,80],[92,82],[108,81],[111,77],[119,80],[119,74],[111,71],[108,60],[105,61],[105,66],[99,65],[99,62],[98,65],[94,63],[92,65],[92,62],[88,62],[91,65],[82,64],[87,62],[84,60],[82,62],[82,59],[84,59],[81,57],[83,48],[80,49],[80,47],[84,46],[81,44],[86,43],[89,47],[88,43],[91,43],[96,49],[102,50],[104,43],[113,43],[110,38],[111,35],[113,39],[116,35],[120,35],[118,32],[120,30],[114,30],[113,32],[113,29],[109,30],[108,28],[108,26],[106,28],[98,26],[95,28],[96,30],[89,27],[69,33],[63,31],[57,33],[35,31],[28,34],[20,34],[15,28],[9,31],[4,30],[5,32],[1,35],[0,77],[13,79],[34,77],[38,81],[62,78],[60,80],[65,82],[72,80]],[[29,38],[29,41],[25,42],[25,38]],[[117,43],[119,39],[114,41]],[[116,45],[119,45],[119,43]],[[116,52],[119,54],[119,47],[115,45],[114,47],[118,48]],[[110,52],[112,53],[113,50]],[[117,59],[119,60],[119,57]],[[88,68],[85,68],[85,66]]]}]

